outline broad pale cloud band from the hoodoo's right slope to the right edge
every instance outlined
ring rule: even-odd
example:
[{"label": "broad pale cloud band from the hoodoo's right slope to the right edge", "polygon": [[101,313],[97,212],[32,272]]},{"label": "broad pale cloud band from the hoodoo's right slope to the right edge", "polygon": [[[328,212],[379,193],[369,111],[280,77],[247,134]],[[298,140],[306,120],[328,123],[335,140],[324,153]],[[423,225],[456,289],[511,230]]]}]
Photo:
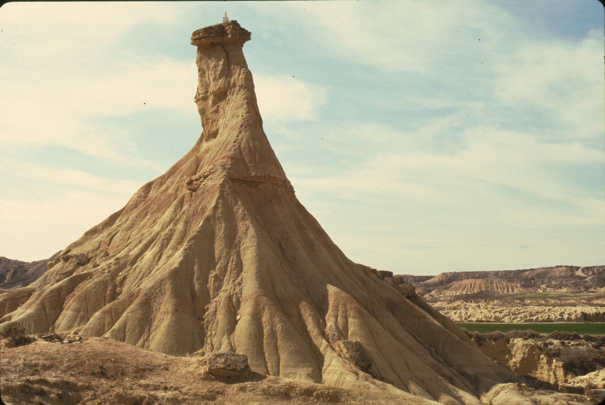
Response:
[{"label": "broad pale cloud band from the hoodoo's right slope to the right edge", "polygon": [[[428,131],[432,128],[428,124]],[[388,147],[374,149],[354,167],[295,176],[292,182],[306,196],[323,190],[365,203],[405,201],[433,207],[437,216],[474,207],[464,219],[467,224],[605,225],[605,202],[587,196],[584,186],[562,183],[560,171],[552,170],[603,166],[601,152],[579,143],[541,143],[532,134],[486,126],[467,128],[465,146],[457,152],[423,151],[424,133],[422,127],[416,133],[397,133],[383,125],[344,128],[335,144],[365,134],[367,140],[386,139]],[[394,139],[404,141],[389,141]]]}]

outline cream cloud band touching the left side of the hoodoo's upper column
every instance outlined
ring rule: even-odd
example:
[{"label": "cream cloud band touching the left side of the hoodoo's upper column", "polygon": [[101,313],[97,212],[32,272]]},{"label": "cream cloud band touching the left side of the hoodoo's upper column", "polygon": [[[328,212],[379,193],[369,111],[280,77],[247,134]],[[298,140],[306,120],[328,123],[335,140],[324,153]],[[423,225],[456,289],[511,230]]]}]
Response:
[{"label": "cream cloud band touching the left side of the hoodoo's upper column", "polygon": [[[99,133],[91,119],[145,108],[195,112],[195,64],[163,62],[124,66],[119,73],[7,69],[0,78],[3,131],[10,143],[58,144],[87,154],[123,159],[128,137]],[[145,104],[144,104],[145,103]]]}]

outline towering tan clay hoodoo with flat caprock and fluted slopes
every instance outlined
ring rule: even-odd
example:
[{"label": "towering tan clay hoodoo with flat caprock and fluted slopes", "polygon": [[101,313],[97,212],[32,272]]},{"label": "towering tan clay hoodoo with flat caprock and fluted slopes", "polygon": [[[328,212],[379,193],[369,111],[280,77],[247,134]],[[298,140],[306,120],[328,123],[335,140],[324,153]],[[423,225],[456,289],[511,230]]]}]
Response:
[{"label": "towering tan clay hoodoo with flat caprock and fluted slopes", "polygon": [[344,256],[273,153],[235,21],[194,33],[204,132],[165,175],[0,296],[2,331],[72,331],[171,355],[442,403],[515,376],[446,317]]}]

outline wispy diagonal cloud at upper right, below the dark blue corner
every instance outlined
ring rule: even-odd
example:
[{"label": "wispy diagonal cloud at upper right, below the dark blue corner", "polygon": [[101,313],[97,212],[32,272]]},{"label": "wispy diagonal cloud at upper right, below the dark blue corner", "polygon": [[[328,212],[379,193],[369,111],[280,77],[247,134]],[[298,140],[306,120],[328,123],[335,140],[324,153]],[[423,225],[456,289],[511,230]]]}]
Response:
[{"label": "wispy diagonal cloud at upper right, below the dark blue corner", "polygon": [[[476,1],[283,7],[312,27],[307,40],[319,52],[378,68],[385,80],[427,80],[424,89],[402,96],[408,109],[479,109],[478,118],[488,123],[514,108],[520,115],[538,111],[567,136],[600,138],[605,132],[602,31],[590,31],[579,44],[528,37],[505,10]],[[441,88],[439,97],[427,97],[431,85]]]}]

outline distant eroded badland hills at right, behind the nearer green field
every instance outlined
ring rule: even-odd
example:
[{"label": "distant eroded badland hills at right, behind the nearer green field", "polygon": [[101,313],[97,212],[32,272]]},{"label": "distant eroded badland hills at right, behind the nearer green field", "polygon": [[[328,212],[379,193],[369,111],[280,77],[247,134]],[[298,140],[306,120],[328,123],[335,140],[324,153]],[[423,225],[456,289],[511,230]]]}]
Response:
[{"label": "distant eroded badland hills at right, behind the nearer green field", "polygon": [[605,322],[605,266],[395,278],[455,322]]}]

